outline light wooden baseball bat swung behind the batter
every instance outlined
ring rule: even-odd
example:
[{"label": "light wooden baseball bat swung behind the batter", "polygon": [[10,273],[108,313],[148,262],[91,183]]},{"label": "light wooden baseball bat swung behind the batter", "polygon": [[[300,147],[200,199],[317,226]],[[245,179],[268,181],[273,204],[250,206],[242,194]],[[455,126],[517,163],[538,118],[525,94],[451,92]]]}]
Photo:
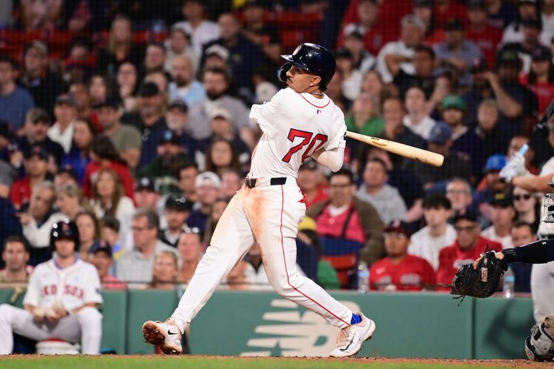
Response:
[{"label": "light wooden baseball bat swung behind the batter", "polygon": [[436,167],[440,167],[441,165],[443,165],[443,161],[445,161],[445,157],[441,154],[437,154],[436,152],[418,149],[418,147],[404,145],[403,143],[398,143],[395,141],[384,140],[383,138],[366,136],[365,134],[359,134],[350,131],[346,131],[346,137],[354,138],[357,141],[379,147],[380,149],[392,152],[393,154],[421,161],[422,163],[434,165]]}]

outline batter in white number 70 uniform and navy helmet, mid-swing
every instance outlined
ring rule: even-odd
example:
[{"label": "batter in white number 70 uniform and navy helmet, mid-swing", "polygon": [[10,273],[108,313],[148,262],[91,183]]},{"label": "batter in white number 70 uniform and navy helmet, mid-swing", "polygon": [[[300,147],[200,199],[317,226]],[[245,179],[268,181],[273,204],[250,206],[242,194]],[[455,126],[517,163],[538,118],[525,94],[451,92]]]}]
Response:
[{"label": "batter in white number 70 uniform and navy helmet, mid-swing", "polygon": [[263,135],[252,154],[244,186],[217,223],[211,245],[199,263],[179,306],[164,323],[147,321],[143,335],[166,354],[181,353],[181,334],[221,280],[260,244],[267,278],[281,296],[321,315],[341,330],[333,357],[357,354],[375,332],[375,323],[355,314],[296,269],[296,233],[305,215],[305,197],[296,184],[298,167],[312,156],[333,171],[342,167],[344,116],[323,93],[336,64],[316,44],[301,44],[278,71],[287,83],[264,105],[253,105],[250,118]]}]

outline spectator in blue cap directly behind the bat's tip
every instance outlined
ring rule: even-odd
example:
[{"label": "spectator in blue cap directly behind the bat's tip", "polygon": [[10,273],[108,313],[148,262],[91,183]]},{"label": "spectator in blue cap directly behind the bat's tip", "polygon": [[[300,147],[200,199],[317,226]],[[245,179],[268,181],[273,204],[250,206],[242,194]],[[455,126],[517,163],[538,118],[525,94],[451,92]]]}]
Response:
[{"label": "spectator in blue cap directly behind the bat's tip", "polygon": [[432,152],[443,155],[445,161],[440,167],[434,167],[420,161],[411,161],[409,169],[419,177],[424,189],[443,186],[449,179],[456,176],[464,179],[471,178],[472,166],[470,159],[452,150],[452,129],[446,123],[436,123],[431,130],[427,148]]}]

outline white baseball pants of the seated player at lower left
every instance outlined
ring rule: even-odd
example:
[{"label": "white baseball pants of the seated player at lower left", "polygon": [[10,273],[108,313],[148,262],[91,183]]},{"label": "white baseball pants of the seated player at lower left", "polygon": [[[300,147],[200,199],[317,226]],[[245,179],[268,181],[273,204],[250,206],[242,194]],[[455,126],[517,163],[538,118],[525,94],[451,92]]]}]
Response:
[{"label": "white baseball pants of the seated player at lower left", "polygon": [[12,353],[13,332],[37,341],[58,338],[71,343],[80,342],[82,354],[99,354],[102,314],[93,307],[84,307],[57,322],[37,322],[25,309],[0,305],[0,354]]}]

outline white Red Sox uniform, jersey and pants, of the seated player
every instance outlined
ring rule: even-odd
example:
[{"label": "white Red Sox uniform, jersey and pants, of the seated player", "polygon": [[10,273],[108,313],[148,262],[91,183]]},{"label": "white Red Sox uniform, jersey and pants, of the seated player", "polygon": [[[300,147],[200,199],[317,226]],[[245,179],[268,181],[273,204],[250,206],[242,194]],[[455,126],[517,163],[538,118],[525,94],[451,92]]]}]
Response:
[{"label": "white Red Sox uniform, jersey and pants, of the seated player", "polygon": [[[42,309],[61,305],[68,312],[86,303],[101,304],[98,271],[80,259],[63,269],[53,259],[48,260],[37,265],[30,275],[23,303]],[[12,332],[37,341],[55,337],[80,342],[83,354],[99,354],[102,314],[94,307],[84,307],[57,322],[46,321],[46,318],[37,322],[25,309],[0,305],[0,354],[12,352]]]}]

